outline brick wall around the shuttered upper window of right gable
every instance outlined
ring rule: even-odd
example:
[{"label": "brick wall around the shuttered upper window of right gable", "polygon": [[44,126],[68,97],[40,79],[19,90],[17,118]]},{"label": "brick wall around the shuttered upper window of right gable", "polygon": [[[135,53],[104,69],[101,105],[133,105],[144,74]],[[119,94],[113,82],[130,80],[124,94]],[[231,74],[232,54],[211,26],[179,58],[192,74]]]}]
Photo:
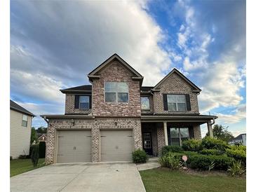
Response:
[{"label": "brick wall around the shuttered upper window of right gable", "polygon": [[[180,76],[173,73],[160,86],[159,92],[154,92],[154,113],[156,114],[198,114],[198,101],[195,92],[192,92],[191,85]],[[189,94],[191,111],[170,112],[163,110],[163,93],[165,94]]]}]

